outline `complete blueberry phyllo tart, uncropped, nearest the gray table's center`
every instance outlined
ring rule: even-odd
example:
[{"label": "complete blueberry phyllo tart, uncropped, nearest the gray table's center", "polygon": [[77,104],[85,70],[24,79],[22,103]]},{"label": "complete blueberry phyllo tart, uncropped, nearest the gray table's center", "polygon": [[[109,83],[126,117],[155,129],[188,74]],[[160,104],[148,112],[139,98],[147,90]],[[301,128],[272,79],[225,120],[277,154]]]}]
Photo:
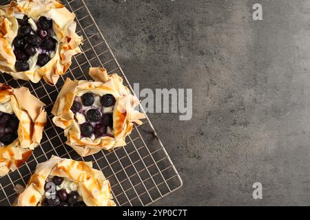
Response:
[{"label": "complete blueberry phyllo tart, uncropped, nearest the gray table's center", "polygon": [[125,146],[134,122],[145,118],[134,110],[139,101],[123,78],[104,68],[90,68],[90,76],[94,82],[67,78],[52,109],[54,124],[65,130],[67,144],[82,157]]}]

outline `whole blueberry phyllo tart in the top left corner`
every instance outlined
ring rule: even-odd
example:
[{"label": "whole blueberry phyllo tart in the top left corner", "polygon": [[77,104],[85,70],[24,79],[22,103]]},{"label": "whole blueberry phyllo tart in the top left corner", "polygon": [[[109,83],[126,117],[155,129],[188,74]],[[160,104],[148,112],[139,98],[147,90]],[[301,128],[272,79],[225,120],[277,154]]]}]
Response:
[{"label": "whole blueberry phyllo tart in the top left corner", "polygon": [[56,0],[19,0],[0,6],[0,71],[50,85],[81,52],[75,14]]}]

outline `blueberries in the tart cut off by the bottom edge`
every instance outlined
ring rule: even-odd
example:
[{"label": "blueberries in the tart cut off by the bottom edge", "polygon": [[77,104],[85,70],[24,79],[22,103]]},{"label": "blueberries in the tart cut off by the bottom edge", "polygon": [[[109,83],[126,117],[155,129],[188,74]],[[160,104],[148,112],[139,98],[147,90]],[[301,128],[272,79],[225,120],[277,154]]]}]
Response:
[{"label": "blueberries in the tart cut off by the bottom edge", "polygon": [[[49,192],[51,189],[55,189],[63,183],[63,177],[54,176],[51,182],[46,182],[44,186],[45,192]],[[65,189],[57,190],[55,195],[44,198],[42,200],[42,206],[86,206],[83,201],[78,201],[79,193],[72,191],[68,193]]]}]

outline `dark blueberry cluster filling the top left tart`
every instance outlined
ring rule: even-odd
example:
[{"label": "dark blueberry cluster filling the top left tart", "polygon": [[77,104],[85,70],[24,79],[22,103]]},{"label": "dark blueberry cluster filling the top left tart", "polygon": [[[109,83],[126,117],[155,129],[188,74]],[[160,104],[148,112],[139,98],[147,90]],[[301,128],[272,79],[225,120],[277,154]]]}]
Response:
[{"label": "dark blueberry cluster filling the top left tart", "polygon": [[18,72],[27,71],[30,65],[27,62],[30,56],[34,56],[39,50],[37,65],[43,67],[50,61],[50,52],[56,48],[56,40],[52,38],[52,20],[46,17],[40,17],[37,22],[38,30],[32,30],[28,17],[24,15],[23,19],[17,19],[19,30],[17,37],[13,41],[14,54],[16,57],[15,68]]}]

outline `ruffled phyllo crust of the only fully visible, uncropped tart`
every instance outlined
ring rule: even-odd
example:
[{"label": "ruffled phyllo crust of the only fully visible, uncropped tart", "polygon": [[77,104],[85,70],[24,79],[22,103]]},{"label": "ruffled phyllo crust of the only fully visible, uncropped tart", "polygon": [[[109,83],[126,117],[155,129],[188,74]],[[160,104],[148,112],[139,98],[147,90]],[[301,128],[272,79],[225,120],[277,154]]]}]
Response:
[{"label": "ruffled phyllo crust of the only fully visible, uncropped tart", "polygon": [[[54,124],[65,129],[65,135],[68,137],[66,143],[82,157],[97,153],[101,149],[110,150],[117,146],[125,146],[125,137],[131,133],[134,122],[141,124],[140,119],[145,118],[143,113],[134,110],[139,101],[123,85],[123,78],[117,74],[107,75],[104,68],[90,68],[90,76],[96,82],[72,81],[67,78],[52,109],[52,114],[55,115]],[[104,136],[94,141],[89,137],[81,138],[79,124],[74,120],[74,113],[70,108],[76,94],[87,92],[99,96],[112,94],[116,99],[113,110],[114,137]]]}]

